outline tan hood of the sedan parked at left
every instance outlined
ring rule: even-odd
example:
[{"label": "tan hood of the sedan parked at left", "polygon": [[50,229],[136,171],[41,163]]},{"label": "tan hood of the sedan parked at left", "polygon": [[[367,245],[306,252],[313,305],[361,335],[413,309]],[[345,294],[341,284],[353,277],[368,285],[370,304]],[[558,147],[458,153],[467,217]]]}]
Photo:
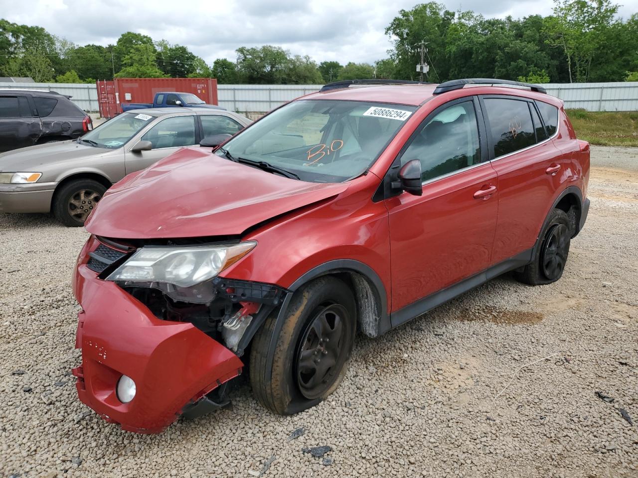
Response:
[{"label": "tan hood of the sedan parked at left", "polygon": [[29,146],[0,154],[0,172],[40,171],[43,165],[101,156],[110,151],[71,140]]}]

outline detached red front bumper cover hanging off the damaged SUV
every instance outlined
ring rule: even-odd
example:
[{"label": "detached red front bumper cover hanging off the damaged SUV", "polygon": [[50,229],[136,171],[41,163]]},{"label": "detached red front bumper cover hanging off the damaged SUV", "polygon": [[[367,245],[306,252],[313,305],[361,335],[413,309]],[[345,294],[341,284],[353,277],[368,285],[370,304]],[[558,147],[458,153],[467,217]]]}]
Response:
[{"label": "detached red front bumper cover hanging off the damaged SUV", "polygon": [[[83,308],[75,343],[82,365],[73,375],[80,400],[103,419],[123,430],[158,433],[186,405],[206,402],[205,394],[241,373],[241,360],[226,347],[192,324],[157,319],[81,259],[73,287]],[[115,393],[122,375],[135,381],[129,403]]]}]

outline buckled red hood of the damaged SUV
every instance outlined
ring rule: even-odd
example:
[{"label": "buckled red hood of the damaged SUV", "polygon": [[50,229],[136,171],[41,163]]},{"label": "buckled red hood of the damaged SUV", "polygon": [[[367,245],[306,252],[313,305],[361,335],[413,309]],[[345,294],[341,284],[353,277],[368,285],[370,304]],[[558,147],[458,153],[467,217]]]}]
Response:
[{"label": "buckled red hood of the damaged SUV", "polygon": [[235,236],[347,188],[298,181],[185,148],[111,187],[85,226],[95,235],[122,239]]}]

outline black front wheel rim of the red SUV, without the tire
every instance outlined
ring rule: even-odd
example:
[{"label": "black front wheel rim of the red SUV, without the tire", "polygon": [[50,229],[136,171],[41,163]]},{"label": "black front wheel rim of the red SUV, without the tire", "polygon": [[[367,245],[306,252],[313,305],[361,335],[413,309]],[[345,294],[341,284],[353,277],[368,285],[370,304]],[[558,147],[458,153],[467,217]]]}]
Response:
[{"label": "black front wheel rim of the red SUV, without the tire", "polygon": [[302,335],[297,353],[297,386],[309,400],[324,395],[341,371],[349,352],[342,347],[343,323],[348,320],[343,305],[323,305]]}]

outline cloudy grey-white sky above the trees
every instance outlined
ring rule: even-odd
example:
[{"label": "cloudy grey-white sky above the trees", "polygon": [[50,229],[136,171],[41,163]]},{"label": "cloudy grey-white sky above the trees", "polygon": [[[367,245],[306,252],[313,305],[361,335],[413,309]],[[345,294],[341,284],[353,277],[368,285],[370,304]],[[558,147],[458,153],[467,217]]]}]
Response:
[{"label": "cloudy grey-white sky above the trees", "polygon": [[[449,10],[486,17],[551,13],[552,0],[439,0]],[[616,0],[618,1],[618,0]],[[125,31],[186,45],[211,64],[235,59],[237,47],[278,45],[315,61],[374,62],[387,57],[383,31],[401,8],[418,0],[0,0],[0,16],[40,25],[78,45],[115,43]],[[619,14],[638,11],[638,0],[619,0]]]}]

